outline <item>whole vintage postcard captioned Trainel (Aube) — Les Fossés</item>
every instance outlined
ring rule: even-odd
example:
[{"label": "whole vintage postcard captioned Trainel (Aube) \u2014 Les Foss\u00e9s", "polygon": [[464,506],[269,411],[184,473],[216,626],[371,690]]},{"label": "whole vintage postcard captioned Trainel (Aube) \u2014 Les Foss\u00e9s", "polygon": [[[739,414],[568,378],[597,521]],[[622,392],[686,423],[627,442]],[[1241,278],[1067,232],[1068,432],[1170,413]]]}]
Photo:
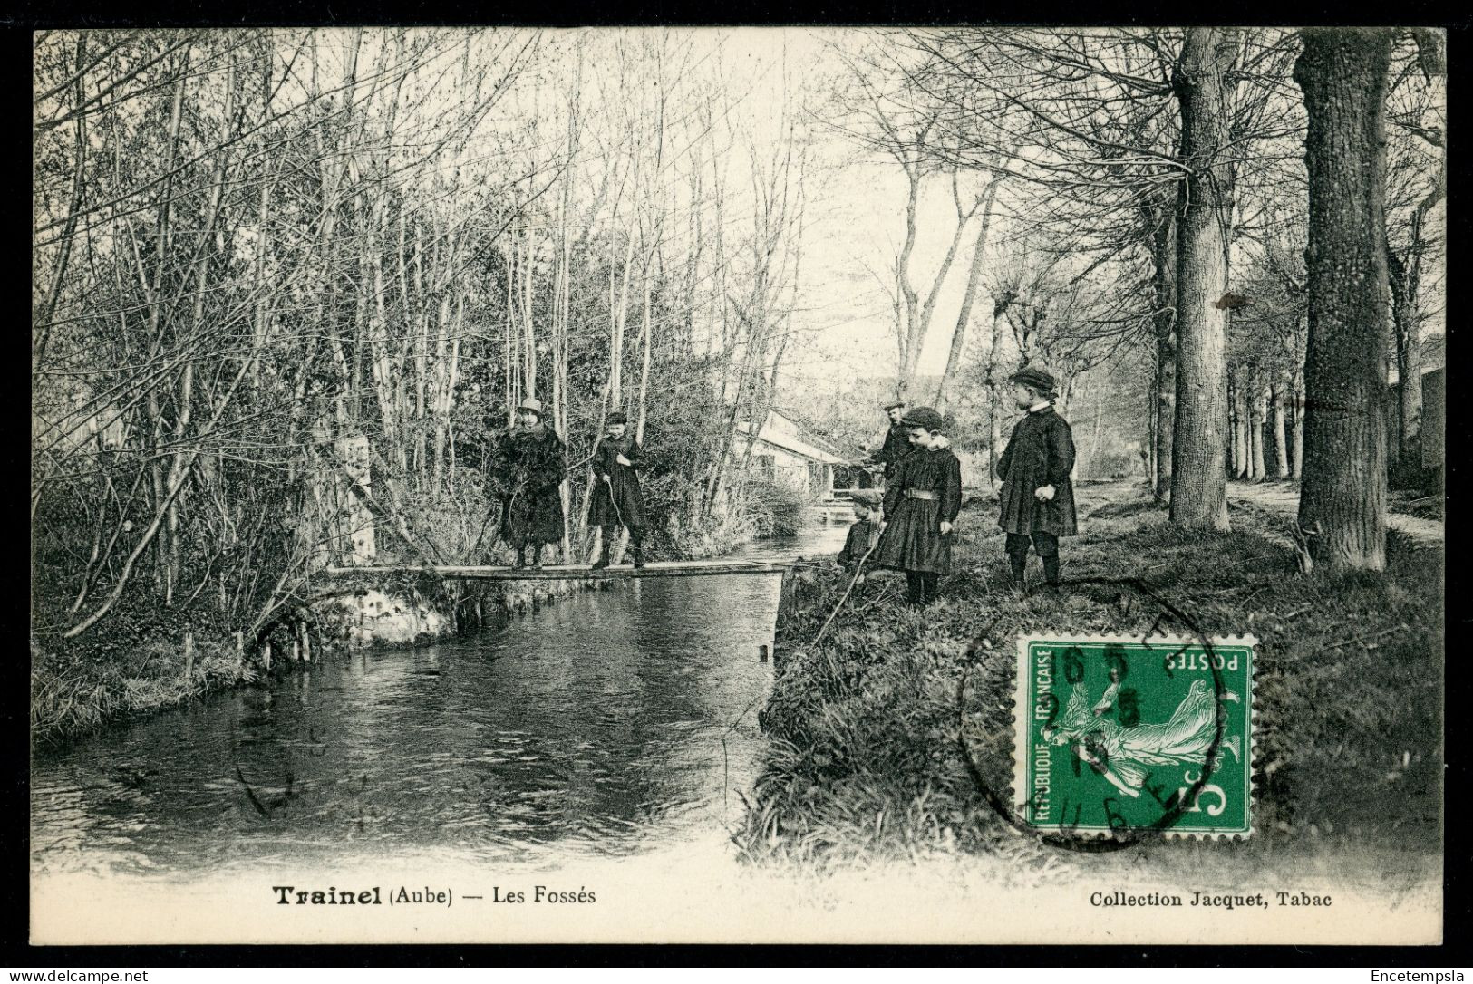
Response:
[{"label": "whole vintage postcard captioned Trainel (Aube) \u2014 Les Foss\u00e9s", "polygon": [[32,943],[1442,940],[1444,31],[32,46]]}]

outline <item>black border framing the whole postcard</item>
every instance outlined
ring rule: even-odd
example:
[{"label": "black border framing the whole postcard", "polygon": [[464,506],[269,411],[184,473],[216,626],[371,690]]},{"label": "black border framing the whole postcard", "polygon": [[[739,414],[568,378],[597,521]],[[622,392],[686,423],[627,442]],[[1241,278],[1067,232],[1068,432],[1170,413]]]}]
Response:
[{"label": "black border framing the whole postcard", "polygon": [[[922,25],[922,24],[1223,24],[1223,25],[1299,25],[1299,24],[1343,24],[1370,25],[1395,21],[1405,25],[1446,27],[1448,62],[1452,66],[1448,82],[1448,103],[1452,118],[1461,113],[1464,87],[1461,84],[1460,56],[1473,50],[1469,46],[1470,28],[1473,28],[1473,13],[1469,7],[1436,0],[1401,0],[1399,3],[1349,7],[1327,3],[1273,3],[1258,4],[1242,1],[1233,4],[1198,4],[1162,3],[1161,0],[1137,0],[1134,3],[1119,3],[1108,0],[1091,3],[1087,7],[1064,7],[1055,4],[1043,9],[1037,3],[1022,3],[1021,0],[993,0],[980,3],[971,0],[928,0],[927,3],[901,4],[899,0],[850,0],[844,4],[762,4],[751,0],[725,0],[723,3],[698,3],[692,0],[648,0],[636,3],[632,0],[608,1],[592,4],[580,0],[564,3],[552,9],[545,4],[524,4],[521,9],[502,4],[467,4],[467,3],[418,3],[412,0],[359,0],[356,4],[343,4],[333,9],[330,0],[255,0],[242,3],[240,0],[193,0],[190,3],[130,3],[103,4],[88,3],[38,3],[37,0],[19,4],[6,3],[0,7],[0,72],[4,74],[4,84],[0,93],[9,97],[12,112],[29,115],[31,91],[31,44],[32,29],[53,28],[87,28],[87,27],[253,27],[253,25],[283,25],[283,27],[337,27],[337,25],[389,25],[389,24],[436,24],[436,25],[529,25],[529,27],[582,27],[582,25],[813,25],[813,27],[854,27],[854,25]],[[1449,143],[1458,146],[1458,127],[1449,121]],[[13,253],[9,271],[24,277],[21,271],[29,270],[29,262],[22,258],[29,255],[28,234],[28,196],[22,194],[29,187],[29,155],[13,152],[6,155],[6,164],[12,168],[6,189],[16,189],[13,194],[0,194],[0,228],[12,234]],[[1451,175],[1448,181],[1449,222],[1448,222],[1448,342],[1451,352],[1458,351],[1457,336],[1463,328],[1461,318],[1466,306],[1463,303],[1463,278],[1457,275],[1461,261],[1467,253],[1469,221],[1463,212],[1463,180],[1467,180],[1467,166],[1454,152],[1449,158]],[[24,286],[16,287],[12,296],[18,298]],[[28,296],[28,290],[25,290]],[[24,320],[25,315],[22,315]],[[19,331],[16,331],[19,334]],[[19,346],[19,339],[16,340]],[[4,362],[6,368],[28,373],[19,358]],[[28,384],[6,386],[0,393],[15,402],[13,411],[6,415],[10,421],[27,421],[28,408],[22,408],[22,393],[28,393]],[[1473,430],[1469,426],[1467,405],[1454,401],[1449,407],[1449,432],[1446,446],[1448,476],[1448,505],[1446,526],[1448,542],[1461,542],[1461,536],[1454,538],[1452,526],[1461,523],[1461,516],[1451,508],[1460,489],[1463,471],[1455,452],[1470,446]],[[15,427],[16,443],[28,443],[22,426]],[[7,442],[10,443],[10,442]],[[13,467],[6,468],[10,474],[18,474],[28,467],[29,449],[21,451],[16,443],[10,443],[0,461]],[[21,483],[12,482],[13,492],[9,516],[28,516],[27,495],[19,491]],[[16,536],[12,542],[28,547],[29,535]],[[1469,714],[1457,711],[1449,716],[1448,709],[1473,706],[1473,686],[1469,683],[1469,663],[1461,657],[1460,650],[1454,650],[1454,658],[1446,664],[1446,686],[1444,694],[1444,729],[1445,729],[1445,853],[1444,853],[1444,944],[1438,947],[1354,947],[1354,946],[1072,946],[1061,944],[1052,947],[1040,946],[766,946],[766,944],[627,944],[627,946],[582,946],[582,944],[477,944],[477,946],[442,946],[442,944],[326,944],[326,946],[56,946],[38,947],[27,941],[29,924],[28,885],[29,863],[27,851],[28,838],[28,754],[29,748],[29,713],[28,692],[29,675],[27,663],[19,653],[19,626],[28,625],[28,592],[21,589],[22,573],[19,555],[27,548],[16,548],[16,555],[0,570],[0,588],[9,589],[0,598],[13,605],[15,616],[7,619],[15,626],[9,660],[6,660],[4,695],[7,704],[0,711],[9,726],[13,750],[9,756],[9,767],[4,770],[9,809],[0,812],[0,851],[7,863],[9,878],[0,884],[0,902],[4,904],[6,918],[0,931],[3,944],[3,963],[9,968],[60,968],[77,969],[96,966],[159,966],[159,968],[205,968],[205,966],[507,966],[507,965],[539,965],[539,966],[574,966],[574,968],[604,968],[604,966],[700,966],[700,965],[744,965],[744,966],[907,966],[907,965],[982,965],[982,966],[1137,966],[1137,968],[1171,968],[1171,966],[1346,966],[1360,968],[1357,977],[1349,980],[1368,980],[1371,968],[1464,968],[1464,974],[1473,965],[1473,947],[1469,937],[1473,935],[1473,899],[1469,894],[1469,851],[1460,848],[1457,834],[1461,823],[1455,818],[1463,815],[1454,806],[1461,803],[1461,791],[1466,790],[1473,770],[1469,769]],[[1429,572],[1436,576],[1436,572]],[[1466,597],[1466,573],[1460,566],[1448,566],[1446,595],[1451,598]],[[29,583],[28,570],[25,583]],[[1458,628],[1473,629],[1473,608],[1458,607]],[[1061,928],[1062,929],[1062,928]]]}]

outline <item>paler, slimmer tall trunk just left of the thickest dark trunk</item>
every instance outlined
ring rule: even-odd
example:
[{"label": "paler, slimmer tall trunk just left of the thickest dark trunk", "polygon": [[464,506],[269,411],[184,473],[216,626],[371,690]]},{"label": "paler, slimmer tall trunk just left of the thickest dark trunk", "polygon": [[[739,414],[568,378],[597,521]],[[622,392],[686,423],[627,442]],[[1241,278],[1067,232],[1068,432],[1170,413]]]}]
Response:
[{"label": "paler, slimmer tall trunk just left of the thickest dark trunk", "polygon": [[1227,228],[1233,172],[1228,143],[1227,32],[1187,28],[1173,88],[1181,105],[1177,206],[1177,407],[1171,448],[1171,521],[1226,530]]}]

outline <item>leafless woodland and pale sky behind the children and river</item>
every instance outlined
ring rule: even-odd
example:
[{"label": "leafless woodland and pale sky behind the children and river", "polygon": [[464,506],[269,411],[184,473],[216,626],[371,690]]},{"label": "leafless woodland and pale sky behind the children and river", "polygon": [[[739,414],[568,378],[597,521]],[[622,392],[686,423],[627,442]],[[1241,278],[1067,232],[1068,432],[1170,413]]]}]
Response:
[{"label": "leafless woodland and pale sky behind the children and river", "polygon": [[1218,530],[1230,477],[1302,479],[1302,563],[1379,569],[1389,483],[1436,482],[1442,47],[38,32],[32,645],[258,632],[355,502],[405,557],[498,555],[485,452],[523,396],[569,442],[567,558],[613,408],[694,555],[773,510],[738,421],[781,405],[857,457],[900,393],[987,463],[1025,362],[1061,380],[1078,477]]}]

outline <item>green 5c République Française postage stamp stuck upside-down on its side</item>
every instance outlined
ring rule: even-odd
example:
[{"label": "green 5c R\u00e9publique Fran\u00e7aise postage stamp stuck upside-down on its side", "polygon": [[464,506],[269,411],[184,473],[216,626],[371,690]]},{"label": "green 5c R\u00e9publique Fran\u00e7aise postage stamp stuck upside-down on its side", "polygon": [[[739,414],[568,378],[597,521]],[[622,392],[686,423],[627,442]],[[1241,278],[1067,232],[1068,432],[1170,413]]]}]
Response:
[{"label": "green 5c R\u00e9publique Fran\u00e7aise postage stamp stuck upside-down on its side", "polygon": [[1252,636],[1018,639],[1013,803],[1040,832],[1248,837]]}]

